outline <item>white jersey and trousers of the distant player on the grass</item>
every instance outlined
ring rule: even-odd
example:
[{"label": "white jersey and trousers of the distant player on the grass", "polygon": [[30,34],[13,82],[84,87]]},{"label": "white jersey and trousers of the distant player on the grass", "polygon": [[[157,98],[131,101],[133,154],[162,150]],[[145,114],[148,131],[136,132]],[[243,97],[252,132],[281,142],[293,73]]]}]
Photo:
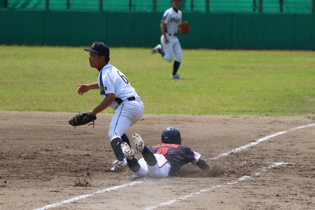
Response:
[{"label": "white jersey and trousers of the distant player on the grass", "polygon": [[177,26],[181,24],[181,11],[177,12],[173,8],[169,8],[163,14],[163,22],[166,24],[166,37],[169,39],[169,43],[165,43],[164,36],[161,36],[161,44],[163,46],[165,55],[163,58],[169,62],[173,61],[173,54],[175,55],[175,60],[181,62],[183,59],[183,54],[181,52],[181,47],[177,36]]}]

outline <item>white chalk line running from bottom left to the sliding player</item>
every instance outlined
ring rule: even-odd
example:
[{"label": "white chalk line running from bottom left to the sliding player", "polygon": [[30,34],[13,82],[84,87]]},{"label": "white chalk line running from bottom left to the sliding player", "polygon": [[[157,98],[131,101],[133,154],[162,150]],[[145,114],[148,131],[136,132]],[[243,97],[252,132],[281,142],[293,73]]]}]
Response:
[{"label": "white chalk line running from bottom left to the sliding player", "polygon": [[100,193],[111,191],[111,190],[117,190],[118,188],[127,187],[127,186],[134,185],[134,184],[140,184],[141,182],[143,182],[143,181],[136,181],[136,182],[131,182],[129,184],[123,184],[123,185],[119,185],[119,186],[115,186],[115,187],[110,187],[110,188],[107,188],[107,189],[104,189],[104,190],[98,190],[96,192],[93,192],[93,193],[90,193],[90,194],[87,194],[87,195],[77,196],[77,197],[71,198],[69,200],[60,201],[58,203],[48,204],[47,206],[44,206],[44,207],[41,207],[41,208],[37,208],[37,209],[33,209],[33,210],[49,209],[49,208],[52,208],[52,207],[60,206],[62,204],[70,203],[72,201],[80,200],[82,198],[86,198],[86,197],[89,197],[89,196],[94,196],[95,194],[100,194]]}]

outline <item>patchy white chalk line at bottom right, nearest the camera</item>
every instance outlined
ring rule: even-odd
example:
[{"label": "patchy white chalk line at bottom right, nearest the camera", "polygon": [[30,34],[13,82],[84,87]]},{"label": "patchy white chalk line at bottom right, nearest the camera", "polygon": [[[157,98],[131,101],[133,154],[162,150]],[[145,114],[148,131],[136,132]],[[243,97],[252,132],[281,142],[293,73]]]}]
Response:
[{"label": "patchy white chalk line at bottom right, nearest the camera", "polygon": [[257,176],[257,175],[261,174],[262,172],[267,171],[267,170],[270,169],[270,168],[274,168],[274,167],[277,167],[277,166],[282,165],[282,164],[288,164],[288,163],[284,163],[284,162],[273,163],[272,165],[270,165],[270,166],[268,166],[268,167],[263,167],[259,172],[253,173],[253,174],[251,174],[250,176],[243,176],[243,177],[241,177],[241,178],[235,179],[235,180],[233,180],[232,182],[228,182],[228,183],[226,183],[226,184],[219,184],[219,185],[210,187],[210,188],[208,188],[208,189],[203,189],[203,190],[200,190],[200,191],[198,191],[198,192],[193,192],[193,193],[188,194],[188,195],[186,195],[186,196],[182,196],[182,197],[179,197],[179,198],[175,198],[175,199],[166,201],[166,202],[164,202],[164,203],[160,203],[160,204],[158,204],[158,205],[156,205],[156,206],[148,207],[148,208],[146,208],[146,210],[152,210],[152,209],[155,209],[155,208],[158,208],[158,207],[161,207],[161,206],[165,206],[165,205],[169,205],[169,204],[175,203],[175,202],[180,201],[180,200],[185,200],[185,199],[187,199],[187,198],[189,198],[189,197],[196,196],[196,195],[201,194],[201,193],[203,193],[203,192],[207,192],[207,191],[210,191],[210,190],[219,189],[219,188],[225,187],[225,186],[227,186],[227,185],[231,185],[231,184],[236,184],[236,183],[241,182],[241,181],[243,181],[243,180],[250,179],[250,178],[252,178],[252,177],[254,177],[254,176]]}]

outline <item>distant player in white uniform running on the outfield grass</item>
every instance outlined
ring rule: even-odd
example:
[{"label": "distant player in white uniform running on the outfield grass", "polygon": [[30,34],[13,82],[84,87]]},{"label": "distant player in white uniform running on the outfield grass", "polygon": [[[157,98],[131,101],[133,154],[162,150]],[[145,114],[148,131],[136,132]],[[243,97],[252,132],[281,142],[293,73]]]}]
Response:
[{"label": "distant player in white uniform running on the outfield grass", "polygon": [[[181,11],[178,9],[180,0],[172,0],[172,7],[166,10],[163,14],[161,21],[161,44],[158,44],[151,51],[151,54],[160,53],[163,58],[168,61],[173,61],[173,54],[175,55],[175,61],[173,64],[173,74],[171,79],[184,79],[177,74],[180,62],[183,59],[180,43],[177,38],[177,29],[181,31]],[[163,49],[162,49],[163,47]]]}]

